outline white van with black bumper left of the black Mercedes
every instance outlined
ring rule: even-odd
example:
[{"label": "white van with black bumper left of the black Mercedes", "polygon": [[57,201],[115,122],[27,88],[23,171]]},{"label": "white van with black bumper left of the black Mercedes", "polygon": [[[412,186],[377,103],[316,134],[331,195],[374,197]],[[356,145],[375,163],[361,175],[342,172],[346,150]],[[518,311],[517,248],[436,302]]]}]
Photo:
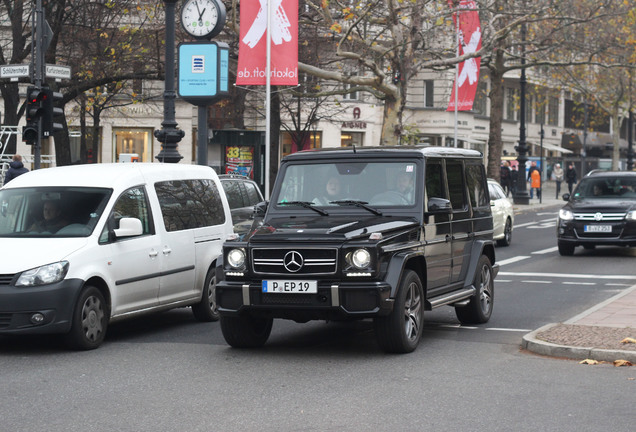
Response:
[{"label": "white van with black bumper left of the black Mercedes", "polygon": [[192,306],[215,321],[215,261],[232,217],[212,168],[95,164],[0,189],[0,335],[97,348],[109,322]]}]

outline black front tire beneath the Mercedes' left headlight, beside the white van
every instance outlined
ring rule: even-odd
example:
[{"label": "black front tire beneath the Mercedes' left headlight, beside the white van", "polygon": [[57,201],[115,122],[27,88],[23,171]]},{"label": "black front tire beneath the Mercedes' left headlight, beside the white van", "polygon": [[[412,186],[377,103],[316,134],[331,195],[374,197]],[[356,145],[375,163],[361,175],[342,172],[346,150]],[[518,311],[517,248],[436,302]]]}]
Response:
[{"label": "black front tire beneath the Mercedes' left headlight, beside the white van", "polygon": [[221,331],[228,345],[234,348],[259,348],[272,332],[272,318],[250,315],[221,317]]}]

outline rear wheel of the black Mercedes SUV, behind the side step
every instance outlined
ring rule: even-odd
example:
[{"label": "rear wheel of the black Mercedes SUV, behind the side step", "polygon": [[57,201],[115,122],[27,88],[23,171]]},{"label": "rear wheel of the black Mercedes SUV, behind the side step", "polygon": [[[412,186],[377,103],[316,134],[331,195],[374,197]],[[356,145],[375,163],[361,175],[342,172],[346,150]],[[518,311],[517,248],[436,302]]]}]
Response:
[{"label": "rear wheel of the black Mercedes SUV, behind the side step", "polygon": [[492,315],[495,282],[492,265],[486,255],[479,258],[473,285],[477,292],[470,298],[468,305],[455,307],[455,315],[462,324],[483,324],[488,322]]}]

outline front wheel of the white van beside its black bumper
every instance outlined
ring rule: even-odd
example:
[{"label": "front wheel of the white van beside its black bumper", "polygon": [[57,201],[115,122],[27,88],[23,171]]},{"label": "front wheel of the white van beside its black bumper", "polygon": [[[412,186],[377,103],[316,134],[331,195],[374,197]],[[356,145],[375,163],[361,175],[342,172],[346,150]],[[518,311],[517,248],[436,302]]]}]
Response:
[{"label": "front wheel of the white van beside its black bumper", "polygon": [[71,331],[64,337],[68,347],[76,350],[99,347],[106,337],[108,315],[101,291],[90,285],[84,287],[73,310]]}]

